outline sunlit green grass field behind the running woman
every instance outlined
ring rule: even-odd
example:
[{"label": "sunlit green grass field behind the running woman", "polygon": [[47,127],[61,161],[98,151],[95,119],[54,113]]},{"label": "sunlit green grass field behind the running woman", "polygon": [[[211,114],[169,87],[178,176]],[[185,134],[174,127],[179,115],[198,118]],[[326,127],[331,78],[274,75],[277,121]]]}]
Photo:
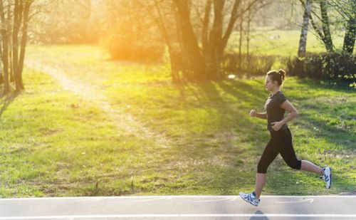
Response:
[{"label": "sunlit green grass field behind the running woman", "polygon": [[[1,98],[0,197],[253,189],[269,138],[249,117],[263,111],[263,77],[173,85],[168,66],[109,61],[97,46],[30,46],[26,59],[71,83],[26,68],[26,91]],[[355,90],[287,76],[283,91],[300,112],[297,157],[332,166],[333,187],[278,156],[263,193],[355,193]]]}]

